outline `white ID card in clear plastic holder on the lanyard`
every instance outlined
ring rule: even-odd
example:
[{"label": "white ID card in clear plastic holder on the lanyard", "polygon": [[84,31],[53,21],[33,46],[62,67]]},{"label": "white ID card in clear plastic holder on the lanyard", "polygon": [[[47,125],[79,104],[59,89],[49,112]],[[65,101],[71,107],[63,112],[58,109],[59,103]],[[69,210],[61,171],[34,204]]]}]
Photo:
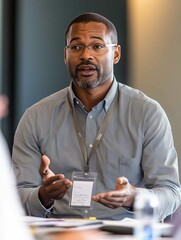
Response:
[{"label": "white ID card in clear plastic holder on the lanyard", "polygon": [[96,177],[97,174],[93,172],[73,172],[70,207],[91,208],[91,199],[95,190]]}]

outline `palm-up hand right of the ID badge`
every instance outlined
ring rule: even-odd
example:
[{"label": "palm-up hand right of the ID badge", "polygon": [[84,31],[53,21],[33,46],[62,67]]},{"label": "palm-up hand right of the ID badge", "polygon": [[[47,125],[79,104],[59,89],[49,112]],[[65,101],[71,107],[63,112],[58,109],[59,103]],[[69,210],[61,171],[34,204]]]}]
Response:
[{"label": "palm-up hand right of the ID badge", "polygon": [[99,193],[93,196],[93,200],[109,208],[132,207],[135,195],[136,188],[129,183],[127,178],[119,177],[114,191]]}]

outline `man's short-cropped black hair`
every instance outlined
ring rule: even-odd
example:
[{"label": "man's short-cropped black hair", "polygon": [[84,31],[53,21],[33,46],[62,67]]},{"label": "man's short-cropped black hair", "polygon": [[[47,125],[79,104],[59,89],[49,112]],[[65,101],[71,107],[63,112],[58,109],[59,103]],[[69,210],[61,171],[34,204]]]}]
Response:
[{"label": "man's short-cropped black hair", "polygon": [[118,43],[118,34],[114,24],[109,19],[107,19],[106,17],[98,13],[87,12],[87,13],[81,14],[80,16],[76,17],[70,22],[65,32],[65,44],[67,42],[67,35],[72,24],[88,23],[88,22],[99,22],[106,25],[108,28],[108,31],[110,32],[112,43],[116,43],[116,44]]}]

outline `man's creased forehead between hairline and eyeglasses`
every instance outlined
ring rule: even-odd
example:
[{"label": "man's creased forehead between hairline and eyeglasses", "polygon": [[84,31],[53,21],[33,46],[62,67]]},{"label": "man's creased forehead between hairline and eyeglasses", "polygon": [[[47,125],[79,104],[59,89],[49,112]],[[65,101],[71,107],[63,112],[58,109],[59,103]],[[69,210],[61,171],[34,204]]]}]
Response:
[{"label": "man's creased forehead between hairline and eyeglasses", "polygon": [[[100,39],[106,41],[110,39],[108,28],[99,22],[74,23],[67,34],[67,42],[74,40]],[[110,41],[110,40],[109,40]]]}]

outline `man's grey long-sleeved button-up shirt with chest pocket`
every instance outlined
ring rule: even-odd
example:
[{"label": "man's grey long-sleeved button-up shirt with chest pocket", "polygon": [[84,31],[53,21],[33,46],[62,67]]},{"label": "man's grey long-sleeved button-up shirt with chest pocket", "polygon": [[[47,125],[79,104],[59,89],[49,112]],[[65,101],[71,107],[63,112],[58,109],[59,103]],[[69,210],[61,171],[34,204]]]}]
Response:
[{"label": "man's grey long-sleeved button-up shirt with chest pocket", "polygon": [[[67,87],[42,99],[25,112],[18,125],[13,147],[13,163],[18,190],[27,214],[45,216],[48,211],[38,198],[42,183],[39,166],[42,154],[50,168],[71,179],[82,172],[83,158],[72,118],[75,107],[88,153],[100,124],[110,107],[118,85],[119,103],[96,152],[90,171],[97,173],[96,193],[115,189],[116,178],[125,176],[139,194],[153,192],[159,200],[159,219],[172,214],[181,203],[177,154],[171,127],[161,106],[142,92],[114,80],[107,96],[87,112]],[[78,214],[69,206],[71,189],[55,201],[54,214]],[[93,202],[91,215],[97,218],[134,217],[125,208],[109,209]]]}]

